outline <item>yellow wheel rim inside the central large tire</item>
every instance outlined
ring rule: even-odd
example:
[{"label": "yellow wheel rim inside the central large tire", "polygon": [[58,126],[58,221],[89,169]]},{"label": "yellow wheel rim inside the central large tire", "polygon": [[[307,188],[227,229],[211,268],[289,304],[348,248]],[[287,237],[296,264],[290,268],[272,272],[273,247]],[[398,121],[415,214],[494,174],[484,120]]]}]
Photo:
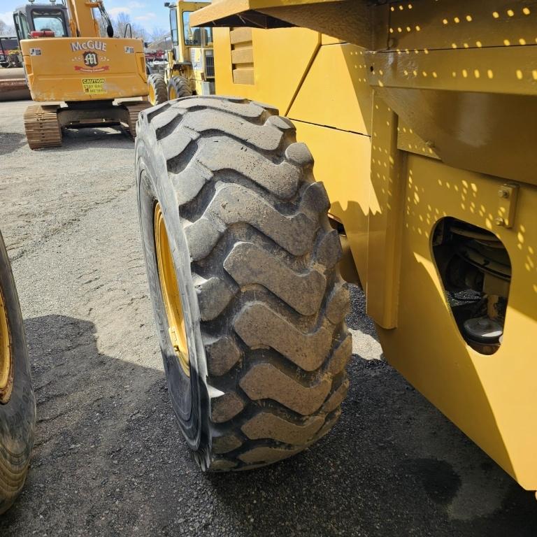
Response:
[{"label": "yellow wheel rim inside the central large tire", "polygon": [[179,363],[185,375],[190,376],[187,331],[185,329],[185,317],[182,314],[181,295],[177,283],[176,268],[173,265],[170,243],[164,224],[164,215],[160,203],[155,205],[155,251],[157,253],[157,271],[159,273],[160,288],[166,317],[168,317],[168,332],[176,351]]}]

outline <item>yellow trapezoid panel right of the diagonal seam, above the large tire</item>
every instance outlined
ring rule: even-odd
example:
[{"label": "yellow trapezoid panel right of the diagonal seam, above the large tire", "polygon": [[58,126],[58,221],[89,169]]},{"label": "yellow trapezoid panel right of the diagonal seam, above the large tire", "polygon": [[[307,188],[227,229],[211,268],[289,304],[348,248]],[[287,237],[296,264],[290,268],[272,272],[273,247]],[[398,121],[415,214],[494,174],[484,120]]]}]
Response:
[{"label": "yellow trapezoid panel right of the diagonal seam, above the large tire", "polygon": [[287,115],[370,134],[371,94],[364,49],[348,44],[322,46]]}]

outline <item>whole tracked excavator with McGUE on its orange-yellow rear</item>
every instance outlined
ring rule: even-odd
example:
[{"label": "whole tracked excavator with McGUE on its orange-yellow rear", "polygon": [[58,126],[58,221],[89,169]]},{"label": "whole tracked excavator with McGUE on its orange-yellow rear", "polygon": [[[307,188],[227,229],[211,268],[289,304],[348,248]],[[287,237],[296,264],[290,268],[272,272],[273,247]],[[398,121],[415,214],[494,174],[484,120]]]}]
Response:
[{"label": "whole tracked excavator with McGUE on its orange-yellow rear", "polygon": [[[106,37],[95,10],[106,24]],[[31,149],[62,145],[62,127],[124,124],[134,138],[138,113],[150,106],[132,100],[148,94],[143,42],[113,38],[101,0],[30,1],[15,9],[13,20],[31,98],[62,103],[27,108],[24,128]]]}]

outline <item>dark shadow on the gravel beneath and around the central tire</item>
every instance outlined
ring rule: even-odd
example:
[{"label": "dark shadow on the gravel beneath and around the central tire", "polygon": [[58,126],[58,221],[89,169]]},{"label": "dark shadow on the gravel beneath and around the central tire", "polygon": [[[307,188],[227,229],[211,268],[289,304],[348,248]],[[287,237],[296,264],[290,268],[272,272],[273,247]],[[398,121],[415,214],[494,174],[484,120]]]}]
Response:
[{"label": "dark shadow on the gravel beneath and around the central tire", "polygon": [[308,452],[202,474],[162,371],[101,355],[94,325],[25,323],[38,427],[2,536],[535,536],[537,503],[387,364],[356,358],[341,422]]}]

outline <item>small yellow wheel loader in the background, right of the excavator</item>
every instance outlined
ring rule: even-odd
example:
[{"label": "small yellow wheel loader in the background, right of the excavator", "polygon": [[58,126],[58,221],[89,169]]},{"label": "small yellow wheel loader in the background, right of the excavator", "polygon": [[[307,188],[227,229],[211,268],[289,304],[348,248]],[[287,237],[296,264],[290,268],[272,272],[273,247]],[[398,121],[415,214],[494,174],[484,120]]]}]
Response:
[{"label": "small yellow wheel loader in the background, right of the excavator", "polygon": [[193,28],[190,16],[207,2],[164,3],[170,10],[172,48],[166,52],[164,73],[148,77],[149,101],[161,104],[169,99],[190,95],[210,95],[215,92],[213,30]]}]

